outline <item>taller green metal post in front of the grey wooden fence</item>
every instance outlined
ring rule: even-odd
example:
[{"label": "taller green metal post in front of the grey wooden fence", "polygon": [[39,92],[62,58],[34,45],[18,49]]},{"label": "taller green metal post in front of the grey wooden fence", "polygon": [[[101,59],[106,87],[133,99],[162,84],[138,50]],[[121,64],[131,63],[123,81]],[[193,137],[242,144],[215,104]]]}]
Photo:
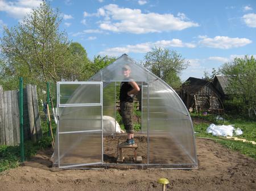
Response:
[{"label": "taller green metal post in front of the grey wooden fence", "polygon": [[20,160],[24,162],[24,137],[23,137],[23,79],[19,78],[19,121],[20,121]]}]

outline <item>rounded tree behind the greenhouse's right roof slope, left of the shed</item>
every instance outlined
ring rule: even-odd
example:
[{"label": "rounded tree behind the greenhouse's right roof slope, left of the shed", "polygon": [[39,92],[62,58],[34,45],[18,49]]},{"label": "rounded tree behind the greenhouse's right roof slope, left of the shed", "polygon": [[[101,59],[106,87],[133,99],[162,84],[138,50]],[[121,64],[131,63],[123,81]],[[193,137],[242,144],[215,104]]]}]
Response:
[{"label": "rounded tree behind the greenhouse's right roof slope, left of the shed", "polygon": [[175,50],[155,47],[144,56],[144,66],[170,86],[179,87],[179,74],[187,68],[187,63]]}]

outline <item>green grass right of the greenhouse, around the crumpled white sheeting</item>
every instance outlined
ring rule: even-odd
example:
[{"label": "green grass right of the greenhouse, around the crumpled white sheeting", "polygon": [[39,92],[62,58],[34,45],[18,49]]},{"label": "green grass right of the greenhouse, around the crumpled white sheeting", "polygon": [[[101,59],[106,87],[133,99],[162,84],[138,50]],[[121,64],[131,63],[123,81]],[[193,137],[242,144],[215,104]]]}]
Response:
[{"label": "green grass right of the greenhouse, around the crumpled white sheeting", "polygon": [[256,122],[252,120],[247,120],[244,118],[233,118],[232,116],[224,116],[224,120],[216,120],[216,116],[208,114],[207,116],[198,115],[195,113],[191,114],[193,121],[202,121],[200,123],[194,122],[194,130],[196,137],[207,137],[213,139],[223,139],[215,140],[217,143],[224,145],[230,150],[236,150],[241,152],[244,155],[250,156],[256,160],[256,145],[251,143],[233,141],[225,139],[224,137],[216,137],[212,134],[206,133],[206,130],[210,124],[216,125],[234,125],[234,128],[240,128],[243,131],[243,134],[236,136],[239,138],[244,138],[248,141],[256,141]]}]

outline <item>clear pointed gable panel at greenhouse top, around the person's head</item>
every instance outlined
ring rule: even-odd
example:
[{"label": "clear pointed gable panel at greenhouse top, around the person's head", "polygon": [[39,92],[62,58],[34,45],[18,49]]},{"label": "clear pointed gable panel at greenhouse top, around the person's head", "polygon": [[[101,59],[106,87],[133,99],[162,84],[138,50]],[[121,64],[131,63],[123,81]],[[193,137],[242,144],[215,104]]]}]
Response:
[{"label": "clear pointed gable panel at greenhouse top, around the person's head", "polygon": [[104,70],[95,74],[89,81],[122,82],[125,78],[122,71],[124,66],[130,67],[130,78],[134,81],[145,82],[147,80],[146,69],[124,54],[118,60],[105,67]]}]

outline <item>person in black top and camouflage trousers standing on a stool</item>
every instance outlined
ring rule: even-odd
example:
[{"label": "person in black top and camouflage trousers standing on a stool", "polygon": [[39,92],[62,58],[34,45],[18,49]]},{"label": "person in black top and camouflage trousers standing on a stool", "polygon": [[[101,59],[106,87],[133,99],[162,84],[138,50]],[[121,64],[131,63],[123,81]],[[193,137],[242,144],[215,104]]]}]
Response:
[{"label": "person in black top and camouflage trousers standing on a stool", "polygon": [[122,142],[121,146],[133,146],[134,141],[134,126],[133,126],[133,99],[135,94],[139,92],[139,86],[133,79],[130,78],[131,68],[129,65],[122,67],[124,76],[123,82],[120,84],[120,109],[123,124],[125,125],[127,140]]}]

